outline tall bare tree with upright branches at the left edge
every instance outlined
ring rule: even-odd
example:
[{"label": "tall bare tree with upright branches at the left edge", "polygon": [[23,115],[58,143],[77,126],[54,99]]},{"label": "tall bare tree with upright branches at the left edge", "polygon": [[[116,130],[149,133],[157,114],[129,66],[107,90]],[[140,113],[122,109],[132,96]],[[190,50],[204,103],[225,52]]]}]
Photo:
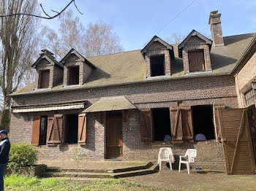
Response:
[{"label": "tall bare tree with upright branches at the left edge", "polygon": [[[37,0],[1,0],[0,15],[13,12],[37,13]],[[27,15],[0,17],[1,69],[0,87],[3,95],[3,109],[0,128],[9,129],[10,105],[8,94],[26,84],[31,76],[31,63],[37,43],[37,20]]]}]

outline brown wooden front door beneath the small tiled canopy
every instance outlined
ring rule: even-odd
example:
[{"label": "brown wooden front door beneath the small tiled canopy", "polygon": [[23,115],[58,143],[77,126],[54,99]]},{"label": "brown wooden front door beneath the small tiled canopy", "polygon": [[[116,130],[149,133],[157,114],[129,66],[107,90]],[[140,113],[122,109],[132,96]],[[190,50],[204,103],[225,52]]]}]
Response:
[{"label": "brown wooden front door beneath the small tiled canopy", "polygon": [[123,121],[121,113],[107,115],[107,158],[123,157]]}]

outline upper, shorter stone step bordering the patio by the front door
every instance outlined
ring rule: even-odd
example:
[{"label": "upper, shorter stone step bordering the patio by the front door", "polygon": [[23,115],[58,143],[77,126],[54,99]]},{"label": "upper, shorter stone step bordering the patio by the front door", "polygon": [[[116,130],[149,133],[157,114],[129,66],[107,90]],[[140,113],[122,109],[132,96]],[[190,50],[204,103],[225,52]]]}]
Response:
[{"label": "upper, shorter stone step bordering the patio by the front door", "polygon": [[119,172],[127,172],[127,171],[136,171],[136,170],[142,170],[151,168],[153,163],[148,162],[146,165],[138,165],[134,167],[129,168],[117,168],[117,169],[72,169],[72,168],[54,168],[54,167],[48,167],[46,169],[47,172],[91,172],[91,173],[119,173]]}]

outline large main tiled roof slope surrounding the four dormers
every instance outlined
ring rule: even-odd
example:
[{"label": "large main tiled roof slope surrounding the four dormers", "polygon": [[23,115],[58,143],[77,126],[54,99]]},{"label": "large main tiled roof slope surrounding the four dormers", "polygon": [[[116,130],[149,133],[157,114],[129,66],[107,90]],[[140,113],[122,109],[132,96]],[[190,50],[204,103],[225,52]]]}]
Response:
[{"label": "large main tiled roof slope surrounding the four dormers", "polygon": [[[229,74],[254,35],[255,34],[241,34],[236,36],[226,36],[224,37],[225,46],[212,46],[211,68],[213,71],[206,75]],[[178,58],[178,44],[173,44],[172,46],[175,55],[175,59],[172,61],[171,66],[172,74],[170,77],[165,77],[165,79],[188,77],[184,74],[182,59]],[[146,79],[146,62],[143,55],[141,55],[140,50],[101,55],[86,59],[97,69],[91,73],[83,85],[74,88],[118,85],[130,82],[146,82],[148,80]],[[193,75],[189,75],[189,77],[192,76]],[[34,87],[35,83],[31,83],[11,95],[33,93]],[[43,92],[66,89],[68,89],[68,87],[63,87],[62,82],[59,82],[59,85],[56,85],[50,90],[44,90]]]}]

